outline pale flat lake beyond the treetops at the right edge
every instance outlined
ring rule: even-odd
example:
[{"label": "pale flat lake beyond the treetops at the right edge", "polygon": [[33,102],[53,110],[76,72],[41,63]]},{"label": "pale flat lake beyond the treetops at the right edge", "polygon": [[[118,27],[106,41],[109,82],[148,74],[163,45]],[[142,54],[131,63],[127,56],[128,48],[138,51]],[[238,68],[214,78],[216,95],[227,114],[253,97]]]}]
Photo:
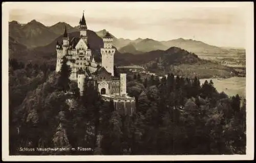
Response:
[{"label": "pale flat lake beyond the treetops at the right edge", "polygon": [[232,77],[227,79],[200,79],[200,83],[203,84],[207,80],[212,80],[214,86],[218,92],[224,91],[228,96],[236,96],[237,94],[242,98],[246,95],[246,78],[245,77]]}]

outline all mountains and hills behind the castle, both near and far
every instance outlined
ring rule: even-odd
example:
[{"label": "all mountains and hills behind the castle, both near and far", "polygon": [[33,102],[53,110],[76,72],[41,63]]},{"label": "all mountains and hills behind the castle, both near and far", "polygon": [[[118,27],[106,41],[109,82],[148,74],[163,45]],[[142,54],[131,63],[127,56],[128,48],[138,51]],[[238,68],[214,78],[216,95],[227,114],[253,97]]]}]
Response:
[{"label": "all mountains and hills behind the castle, both near and far", "polygon": [[[56,64],[56,42],[62,41],[65,27],[70,40],[79,36],[78,27],[72,27],[65,22],[58,22],[50,27],[36,20],[25,25],[20,25],[17,21],[9,22],[10,57],[24,62],[48,62],[54,66]],[[106,30],[98,32],[88,30],[89,46],[96,59],[101,57],[102,37],[106,32]],[[229,76],[230,71],[233,71],[230,67],[201,60],[199,54],[212,55],[228,52],[226,49],[201,41],[183,38],[169,41],[157,41],[150,38],[131,40],[112,36],[116,48],[114,60],[117,66],[143,65],[151,72],[176,72],[176,74],[201,77]]]}]

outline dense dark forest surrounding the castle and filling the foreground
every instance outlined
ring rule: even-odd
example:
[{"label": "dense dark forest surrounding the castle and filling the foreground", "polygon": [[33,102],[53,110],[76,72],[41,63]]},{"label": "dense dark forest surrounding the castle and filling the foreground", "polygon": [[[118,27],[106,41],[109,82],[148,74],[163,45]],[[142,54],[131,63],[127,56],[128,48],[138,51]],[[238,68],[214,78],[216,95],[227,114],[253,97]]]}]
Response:
[{"label": "dense dark forest surrounding the castle and filling the foreground", "polygon": [[[10,155],[245,154],[246,103],[217,92],[212,81],[127,76],[137,107],[129,116],[89,82],[80,96],[69,75],[65,59],[59,73],[9,60]],[[93,150],[19,150],[25,147]]]}]

